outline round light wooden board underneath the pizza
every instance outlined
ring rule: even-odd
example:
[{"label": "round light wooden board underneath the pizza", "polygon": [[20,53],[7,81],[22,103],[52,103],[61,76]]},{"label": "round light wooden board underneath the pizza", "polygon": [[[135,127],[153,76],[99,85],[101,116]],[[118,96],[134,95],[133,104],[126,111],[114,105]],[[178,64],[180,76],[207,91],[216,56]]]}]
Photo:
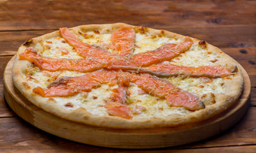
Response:
[{"label": "round light wooden board underneath the pizza", "polygon": [[245,83],[241,97],[235,105],[209,120],[175,128],[158,129],[110,129],[87,126],[47,113],[24,98],[12,82],[13,61],[14,57],[4,70],[4,97],[12,110],[22,119],[47,133],[89,145],[150,149],[197,142],[217,135],[236,124],[250,104],[248,101],[251,90],[250,78],[241,67]]}]

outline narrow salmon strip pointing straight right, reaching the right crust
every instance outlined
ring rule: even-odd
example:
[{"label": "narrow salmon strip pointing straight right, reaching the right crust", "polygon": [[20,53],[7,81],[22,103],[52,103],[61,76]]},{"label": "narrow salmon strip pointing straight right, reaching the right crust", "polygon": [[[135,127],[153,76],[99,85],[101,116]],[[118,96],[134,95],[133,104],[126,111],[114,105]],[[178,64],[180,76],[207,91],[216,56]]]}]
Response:
[{"label": "narrow salmon strip pointing straight right, reaching the right crust", "polygon": [[150,71],[157,72],[162,77],[171,77],[173,75],[189,75],[192,77],[219,78],[227,77],[232,73],[231,69],[221,66],[177,66],[173,64],[157,64],[147,68]]}]

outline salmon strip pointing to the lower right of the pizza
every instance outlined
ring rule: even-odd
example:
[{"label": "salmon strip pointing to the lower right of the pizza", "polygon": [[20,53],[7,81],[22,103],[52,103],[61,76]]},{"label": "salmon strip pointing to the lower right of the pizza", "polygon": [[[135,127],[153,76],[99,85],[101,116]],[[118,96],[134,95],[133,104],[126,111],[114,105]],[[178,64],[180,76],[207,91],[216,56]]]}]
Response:
[{"label": "salmon strip pointing to the lower right of the pizza", "polygon": [[133,75],[131,82],[152,96],[166,99],[170,106],[183,106],[192,111],[205,108],[204,103],[195,95],[152,75]]}]

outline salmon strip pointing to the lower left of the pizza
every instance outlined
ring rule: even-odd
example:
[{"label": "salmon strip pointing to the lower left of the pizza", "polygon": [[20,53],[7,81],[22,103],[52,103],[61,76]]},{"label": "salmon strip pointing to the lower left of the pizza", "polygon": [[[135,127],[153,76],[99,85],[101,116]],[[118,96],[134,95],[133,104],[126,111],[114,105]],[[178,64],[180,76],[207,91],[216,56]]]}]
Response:
[{"label": "salmon strip pointing to the lower left of the pizza", "polygon": [[61,77],[46,89],[36,87],[33,92],[43,97],[73,96],[81,91],[90,92],[93,88],[109,82],[116,82],[116,72],[99,70],[79,77]]}]

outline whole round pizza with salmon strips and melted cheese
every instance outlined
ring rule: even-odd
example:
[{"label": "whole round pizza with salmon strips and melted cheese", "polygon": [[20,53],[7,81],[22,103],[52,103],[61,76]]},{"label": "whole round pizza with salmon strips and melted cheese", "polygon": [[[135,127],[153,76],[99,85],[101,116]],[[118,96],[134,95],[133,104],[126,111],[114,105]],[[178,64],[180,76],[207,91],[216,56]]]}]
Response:
[{"label": "whole round pizza with salmon strips and melted cheese", "polygon": [[227,110],[239,64],[204,40],[122,23],[60,28],[26,41],[13,82],[57,117],[104,128],[181,126]]}]

